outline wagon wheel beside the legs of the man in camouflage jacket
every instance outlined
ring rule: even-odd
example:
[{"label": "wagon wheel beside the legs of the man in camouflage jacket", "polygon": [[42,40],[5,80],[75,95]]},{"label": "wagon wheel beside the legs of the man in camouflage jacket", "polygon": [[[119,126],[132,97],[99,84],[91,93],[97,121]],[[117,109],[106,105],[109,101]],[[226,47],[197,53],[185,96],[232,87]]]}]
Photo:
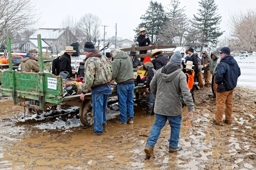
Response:
[{"label": "wagon wheel beside the legs of the man in camouflage jacket", "polygon": [[92,100],[83,104],[79,109],[79,118],[83,125],[93,127],[93,104]]}]

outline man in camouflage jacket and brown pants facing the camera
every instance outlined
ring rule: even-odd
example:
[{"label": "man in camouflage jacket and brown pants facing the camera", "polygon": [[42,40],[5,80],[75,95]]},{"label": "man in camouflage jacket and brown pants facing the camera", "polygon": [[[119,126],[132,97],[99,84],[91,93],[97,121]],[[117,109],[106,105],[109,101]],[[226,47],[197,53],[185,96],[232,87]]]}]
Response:
[{"label": "man in camouflage jacket and brown pants facing the camera", "polygon": [[202,65],[203,65],[203,70],[204,70],[204,83],[205,86],[210,86],[211,85],[211,79],[212,79],[212,74],[210,73],[210,57],[207,54],[207,51],[202,52]]}]

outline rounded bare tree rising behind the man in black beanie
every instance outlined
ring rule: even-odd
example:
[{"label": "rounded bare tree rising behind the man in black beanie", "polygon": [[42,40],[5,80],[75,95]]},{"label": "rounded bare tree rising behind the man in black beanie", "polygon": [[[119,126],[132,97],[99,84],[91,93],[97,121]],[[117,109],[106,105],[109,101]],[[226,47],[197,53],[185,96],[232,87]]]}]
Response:
[{"label": "rounded bare tree rising behind the man in black beanie", "polygon": [[95,14],[84,14],[79,20],[81,32],[85,36],[85,41],[92,41],[94,45],[100,38],[101,19]]}]

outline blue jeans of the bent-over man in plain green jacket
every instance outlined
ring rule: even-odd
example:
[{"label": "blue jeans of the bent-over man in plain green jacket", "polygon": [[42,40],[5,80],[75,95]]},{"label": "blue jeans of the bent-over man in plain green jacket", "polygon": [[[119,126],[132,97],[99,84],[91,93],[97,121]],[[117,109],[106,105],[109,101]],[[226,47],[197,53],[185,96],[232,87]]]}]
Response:
[{"label": "blue jeans of the bent-over man in plain green jacket", "polygon": [[134,83],[127,85],[117,85],[117,97],[119,100],[119,119],[123,123],[127,123],[128,119],[131,117],[134,119]]}]

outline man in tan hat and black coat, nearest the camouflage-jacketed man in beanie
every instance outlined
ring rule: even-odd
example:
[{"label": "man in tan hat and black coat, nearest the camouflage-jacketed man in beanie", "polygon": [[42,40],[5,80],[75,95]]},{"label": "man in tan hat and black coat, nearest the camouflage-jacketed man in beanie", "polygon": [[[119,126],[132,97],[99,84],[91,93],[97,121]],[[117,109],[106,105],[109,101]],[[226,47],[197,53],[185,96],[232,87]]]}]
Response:
[{"label": "man in tan hat and black coat, nearest the camouflage-jacketed man in beanie", "polygon": [[73,52],[76,52],[73,50],[72,46],[67,46],[64,51],[64,54],[61,56],[60,59],[60,72],[61,71],[67,71],[70,74],[70,77],[72,77],[72,67],[71,67],[71,55]]}]

